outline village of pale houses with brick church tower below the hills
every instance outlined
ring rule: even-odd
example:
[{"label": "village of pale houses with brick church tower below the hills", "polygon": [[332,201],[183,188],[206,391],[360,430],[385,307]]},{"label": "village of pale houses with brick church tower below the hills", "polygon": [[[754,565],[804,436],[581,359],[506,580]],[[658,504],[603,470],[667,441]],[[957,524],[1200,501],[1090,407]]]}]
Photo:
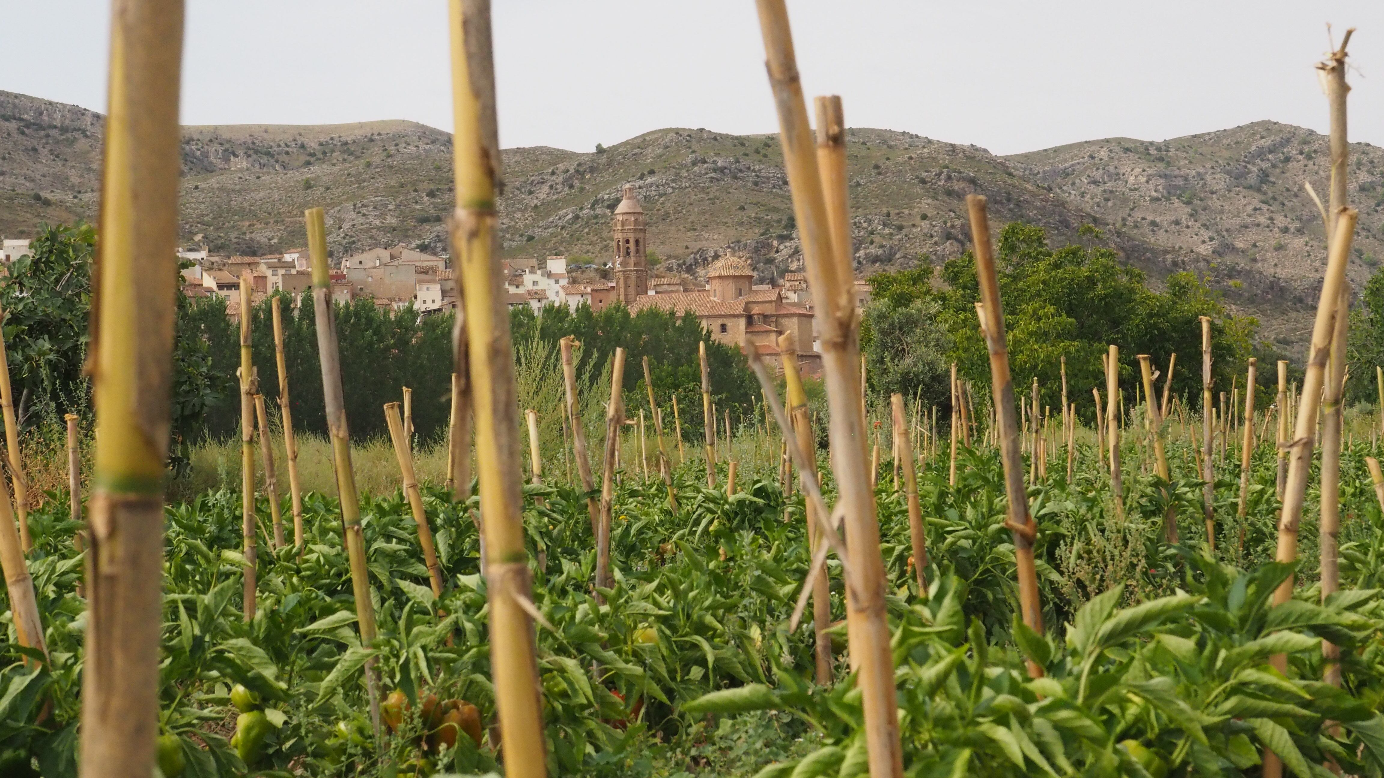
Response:
[{"label": "village of pale houses with brick church tower below the hills", "polygon": [[[677,314],[692,313],[722,343],[754,345],[760,356],[776,357],[781,345],[790,345],[799,365],[810,374],[821,371],[817,347],[812,295],[804,273],[785,273],[757,284],[756,271],[739,256],[721,256],[706,269],[706,281],[650,269],[646,256],[648,223],[634,186],[626,186],[614,210],[614,251],[603,266],[570,267],[566,256],[512,257],[501,260],[505,293],[511,309],[527,306],[540,313],[545,306],[566,306],[594,311],[621,303],[631,313],[662,307]],[[198,241],[201,235],[195,237]],[[28,253],[28,239],[0,239],[8,264]],[[192,298],[219,295],[226,311],[239,320],[241,277],[248,274],[253,303],[280,292],[295,305],[311,291],[310,252],[291,248],[264,256],[212,253],[205,244],[179,246],[183,292]],[[334,259],[332,300],[353,303],[374,300],[376,306],[403,310],[408,306],[429,316],[457,309],[458,288],[450,257],[433,256],[403,244],[371,248]],[[871,287],[855,281],[855,306],[869,303]],[[781,341],[785,335],[789,341]]]}]

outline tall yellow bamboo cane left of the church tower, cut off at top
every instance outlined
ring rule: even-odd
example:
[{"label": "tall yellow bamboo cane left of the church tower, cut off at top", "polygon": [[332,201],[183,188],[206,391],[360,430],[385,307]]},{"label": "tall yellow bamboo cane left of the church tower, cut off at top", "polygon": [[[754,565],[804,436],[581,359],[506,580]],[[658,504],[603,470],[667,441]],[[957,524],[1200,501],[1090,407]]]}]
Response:
[{"label": "tall yellow bamboo cane left of the church tower, cut off at top", "polygon": [[[495,198],[500,138],[495,120],[490,1],[451,0],[451,64],[457,213],[466,305],[466,341],[480,473],[480,515],[486,529],[486,580],[490,599],[490,656],[505,775],[545,778],[548,748],[543,727],[541,684],[534,659],[519,493],[519,410],[509,342],[509,310],[500,275]],[[619,385],[619,382],[616,382]]]}]

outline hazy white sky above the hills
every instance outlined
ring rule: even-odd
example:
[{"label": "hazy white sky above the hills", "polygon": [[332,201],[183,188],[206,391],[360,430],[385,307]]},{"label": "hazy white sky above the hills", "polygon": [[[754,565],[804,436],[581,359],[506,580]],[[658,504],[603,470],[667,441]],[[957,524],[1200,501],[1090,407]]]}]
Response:
[{"label": "hazy white sky above the hills", "polygon": [[[495,0],[505,147],[776,129],[753,0]],[[808,96],[851,126],[1013,154],[1275,119],[1324,130],[1312,64],[1352,39],[1351,137],[1384,145],[1378,0],[789,0]],[[105,107],[109,4],[0,0],[0,89]],[[451,127],[446,0],[188,0],[183,122]]]}]

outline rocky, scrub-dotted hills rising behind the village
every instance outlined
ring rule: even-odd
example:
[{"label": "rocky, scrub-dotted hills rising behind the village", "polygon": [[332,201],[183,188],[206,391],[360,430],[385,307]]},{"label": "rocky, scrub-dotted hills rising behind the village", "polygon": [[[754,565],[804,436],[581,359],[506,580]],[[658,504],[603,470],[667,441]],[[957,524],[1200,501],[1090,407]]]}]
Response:
[{"label": "rocky, scrub-dotted hills rising behind the village", "polygon": [[[94,219],[102,116],[0,91],[0,234]],[[848,165],[857,266],[907,266],[965,251],[965,195],[990,197],[992,220],[1023,219],[1057,241],[1095,223],[1102,242],[1149,273],[1210,275],[1264,332],[1297,352],[1324,263],[1320,217],[1302,191],[1326,188],[1326,138],[1257,122],[1147,143],[1107,138],[1013,156],[916,134],[853,129]],[[268,253],[303,242],[302,212],[328,212],[334,255],[406,242],[446,251],[451,138],[412,122],[184,127],[185,239]],[[1362,208],[1351,278],[1384,256],[1384,150],[1356,144],[1352,197]],[[501,228],[509,256],[603,259],[610,210],[634,181],[650,249],[698,274],[747,255],[761,277],[801,267],[776,136],[663,129],[592,152],[504,151]]]}]

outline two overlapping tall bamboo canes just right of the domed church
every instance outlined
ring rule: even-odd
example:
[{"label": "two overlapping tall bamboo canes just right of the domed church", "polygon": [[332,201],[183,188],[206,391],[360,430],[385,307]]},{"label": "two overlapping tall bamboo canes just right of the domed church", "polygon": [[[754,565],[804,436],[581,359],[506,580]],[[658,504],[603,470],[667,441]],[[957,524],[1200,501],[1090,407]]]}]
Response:
[{"label": "two overlapping tall bamboo canes just right of the domed church", "polygon": [[[862,397],[851,381],[859,354],[859,320],[851,278],[850,212],[846,203],[846,126],[839,98],[821,98],[818,145],[807,122],[783,0],[757,0],[770,84],[779,114],[785,170],[801,235],[808,282],[819,306],[822,371],[830,407],[832,462],[844,509],[847,558],[859,587],[847,587],[847,631],[865,723],[869,772],[904,772],[894,689],[894,662],[884,605],[884,565],[873,494],[865,472]],[[819,158],[825,165],[819,169]],[[851,595],[854,590],[858,595]]]}]

